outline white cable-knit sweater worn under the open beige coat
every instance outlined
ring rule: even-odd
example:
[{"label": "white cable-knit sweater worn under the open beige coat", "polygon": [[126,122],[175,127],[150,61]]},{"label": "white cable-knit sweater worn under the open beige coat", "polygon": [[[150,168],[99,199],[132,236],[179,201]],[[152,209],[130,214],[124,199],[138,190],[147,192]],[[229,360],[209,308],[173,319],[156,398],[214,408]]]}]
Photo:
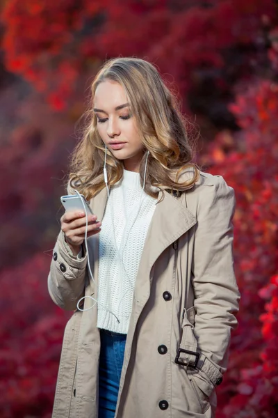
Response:
[{"label": "white cable-knit sweater worn under the open beige coat", "polygon": [[155,208],[156,199],[142,190],[140,174],[124,170],[122,180],[111,188],[99,233],[99,328],[127,334],[136,276]]}]

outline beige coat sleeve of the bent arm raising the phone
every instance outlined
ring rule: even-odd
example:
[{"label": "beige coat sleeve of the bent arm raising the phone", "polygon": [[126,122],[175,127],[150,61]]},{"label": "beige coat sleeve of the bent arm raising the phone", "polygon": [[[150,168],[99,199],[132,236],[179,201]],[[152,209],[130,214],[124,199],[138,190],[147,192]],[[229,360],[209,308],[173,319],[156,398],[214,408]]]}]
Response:
[{"label": "beige coat sleeve of the bent arm raising the phone", "polygon": [[[70,186],[67,192],[72,194]],[[73,256],[67,249],[63,231],[60,231],[48,276],[48,291],[51,299],[66,310],[76,309],[76,304],[84,295],[87,254],[83,257]]]}]

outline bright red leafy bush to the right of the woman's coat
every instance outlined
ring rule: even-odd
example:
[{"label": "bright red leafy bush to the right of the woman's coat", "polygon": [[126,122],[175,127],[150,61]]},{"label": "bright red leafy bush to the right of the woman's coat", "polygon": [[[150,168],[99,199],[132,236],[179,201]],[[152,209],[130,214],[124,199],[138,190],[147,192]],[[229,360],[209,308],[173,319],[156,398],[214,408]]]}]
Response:
[{"label": "bright red leafy bush to the right of the woman's coat", "polygon": [[[240,325],[232,340],[229,371],[218,391],[218,418],[274,418],[277,414],[278,369],[272,343],[277,338],[278,311],[273,303],[271,320],[263,316],[261,299],[270,297],[265,286],[278,270],[277,92],[277,84],[261,81],[240,91],[230,109],[242,129],[234,137],[219,134],[203,158],[204,164],[211,164],[211,173],[222,173],[234,187],[237,200],[234,247],[242,297]],[[265,321],[263,330],[260,318]],[[266,371],[271,359],[270,378]]]}]

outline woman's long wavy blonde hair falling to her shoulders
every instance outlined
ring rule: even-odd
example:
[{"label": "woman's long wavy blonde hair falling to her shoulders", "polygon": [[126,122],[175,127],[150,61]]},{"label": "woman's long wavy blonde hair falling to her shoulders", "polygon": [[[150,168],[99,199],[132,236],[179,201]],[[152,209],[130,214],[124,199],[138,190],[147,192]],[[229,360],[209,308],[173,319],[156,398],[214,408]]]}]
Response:
[{"label": "woman's long wavy blonde hair falling to her shoulders", "polygon": [[[165,86],[158,70],[151,63],[137,58],[117,58],[106,61],[92,82],[90,107],[85,113],[83,137],[72,154],[70,186],[78,189],[86,199],[104,189],[105,145],[97,130],[97,117],[92,110],[95,91],[106,80],[119,83],[126,91],[131,114],[136,124],[145,154],[140,162],[141,185],[144,178],[147,150],[145,192],[157,197],[154,187],[183,192],[193,187],[199,178],[199,169],[192,161],[193,148],[188,141],[186,121],[177,99]],[[193,171],[190,180],[181,182],[180,176],[188,168]],[[108,184],[115,185],[123,174],[123,161],[107,150],[106,169]],[[152,187],[154,186],[154,187]]]}]

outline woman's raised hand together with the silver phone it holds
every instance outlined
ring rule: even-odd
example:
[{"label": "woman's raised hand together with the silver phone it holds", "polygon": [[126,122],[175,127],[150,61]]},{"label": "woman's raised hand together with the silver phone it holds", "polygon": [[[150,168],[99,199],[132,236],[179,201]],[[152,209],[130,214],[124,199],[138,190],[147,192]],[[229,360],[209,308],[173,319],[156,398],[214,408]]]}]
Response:
[{"label": "woman's raised hand together with the silver phone it holds", "polygon": [[80,246],[85,239],[85,212],[88,216],[87,238],[99,233],[101,222],[97,222],[97,215],[92,213],[90,205],[83,195],[80,197],[77,194],[70,194],[61,196],[60,200],[65,208],[65,214],[60,219],[61,229],[63,233],[65,233],[67,244],[70,245],[73,254],[77,255],[79,254]]}]

